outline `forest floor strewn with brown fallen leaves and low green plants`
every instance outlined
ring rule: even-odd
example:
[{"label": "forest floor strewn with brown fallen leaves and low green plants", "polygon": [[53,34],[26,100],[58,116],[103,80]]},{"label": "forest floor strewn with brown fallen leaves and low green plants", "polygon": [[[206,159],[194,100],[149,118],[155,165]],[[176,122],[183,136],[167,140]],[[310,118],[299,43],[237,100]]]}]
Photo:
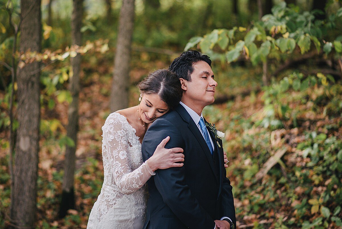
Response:
[{"label": "forest floor strewn with brown fallen leaves and low green plants", "polygon": [[[139,58],[146,60],[135,62],[130,73],[130,106],[136,105],[139,98],[134,83],[150,70],[167,67],[163,61],[149,61],[146,55],[140,54]],[[69,215],[63,219],[58,219],[57,213],[65,149],[58,145],[58,138],[66,134],[68,104],[56,101],[52,110],[42,107],[37,228],[87,227],[90,210],[103,183],[101,127],[110,113],[111,65],[105,60],[89,60],[82,66],[80,131],[76,151],[76,209],[69,210]],[[275,127],[265,109],[265,92],[260,89],[259,83],[260,69],[217,65],[213,70],[219,83],[217,96],[229,95],[233,99],[206,107],[203,115],[226,134],[223,148],[230,160],[227,177],[233,186],[238,228],[312,228],[316,225],[341,228],[338,226],[341,220],[333,218],[341,218],[340,203],[330,199],[341,195],[341,176],[325,171],[325,164],[316,161],[314,165],[314,159],[309,157],[312,152],[308,153],[309,156],[303,154],[309,146],[312,150],[318,147],[319,152],[327,150],[326,147],[334,147],[333,143],[340,146],[342,117],[326,115],[324,106],[316,106],[314,112],[311,103],[299,101],[299,92],[290,91],[291,99],[287,100],[289,107],[302,110],[296,117],[297,125],[293,125],[292,119],[285,119],[280,127],[278,122],[278,127]],[[320,88],[316,89],[312,96],[320,93]],[[241,92],[246,90],[250,93],[242,96]],[[4,95],[0,96],[3,98]],[[8,132],[1,131],[0,139],[1,227],[8,223],[10,206]],[[317,146],[311,144],[313,140]],[[326,146],[329,141],[333,143]],[[336,158],[339,152],[341,150],[332,149],[336,161],[342,160]],[[318,158],[324,160],[325,156]],[[332,164],[333,161],[329,165]],[[327,190],[329,197],[326,197]],[[330,209],[329,216],[324,207]]]}]

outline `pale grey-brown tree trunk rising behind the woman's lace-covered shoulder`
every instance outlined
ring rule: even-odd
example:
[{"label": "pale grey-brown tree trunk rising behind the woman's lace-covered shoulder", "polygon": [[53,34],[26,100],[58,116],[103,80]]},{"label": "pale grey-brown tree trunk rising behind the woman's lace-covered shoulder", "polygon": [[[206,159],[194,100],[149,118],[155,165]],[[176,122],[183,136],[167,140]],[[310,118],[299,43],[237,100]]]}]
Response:
[{"label": "pale grey-brown tree trunk rising behind the woman's lace-covered shoulder", "polygon": [[119,33],[116,45],[110,110],[128,107],[129,68],[134,24],[134,0],[123,0],[120,10]]}]

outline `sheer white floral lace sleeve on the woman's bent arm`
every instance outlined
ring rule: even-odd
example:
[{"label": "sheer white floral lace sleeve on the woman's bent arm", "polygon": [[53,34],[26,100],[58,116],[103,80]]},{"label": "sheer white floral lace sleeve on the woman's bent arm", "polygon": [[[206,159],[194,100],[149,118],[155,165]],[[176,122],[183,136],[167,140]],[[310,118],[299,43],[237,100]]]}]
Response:
[{"label": "sheer white floral lace sleeve on the woman's bent arm", "polygon": [[123,194],[130,194],[140,189],[155,174],[146,162],[132,171],[127,155],[129,153],[127,132],[131,130],[127,125],[117,118],[108,117],[103,128],[103,141],[106,148],[103,159],[107,161],[108,172],[113,176],[119,192]]}]

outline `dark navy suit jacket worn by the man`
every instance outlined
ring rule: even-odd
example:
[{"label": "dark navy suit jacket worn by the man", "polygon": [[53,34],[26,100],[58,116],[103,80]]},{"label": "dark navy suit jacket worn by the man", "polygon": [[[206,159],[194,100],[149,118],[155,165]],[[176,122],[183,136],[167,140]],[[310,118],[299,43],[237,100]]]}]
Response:
[{"label": "dark navy suit jacket worn by the man", "polygon": [[[197,124],[182,105],[154,121],[143,144],[143,160],[151,157],[158,144],[170,136],[166,148],[184,149],[184,165],[158,169],[148,183],[149,199],[144,229],[213,229],[222,216],[235,224],[235,208],[230,181],[226,178],[223,149],[214,135],[214,153]],[[222,141],[219,140],[222,146]]]}]

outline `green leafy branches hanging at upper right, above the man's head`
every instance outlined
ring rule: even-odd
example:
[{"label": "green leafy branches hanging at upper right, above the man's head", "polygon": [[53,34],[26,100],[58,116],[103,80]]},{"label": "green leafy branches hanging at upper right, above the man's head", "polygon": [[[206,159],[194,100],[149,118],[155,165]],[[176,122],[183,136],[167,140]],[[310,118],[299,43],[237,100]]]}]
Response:
[{"label": "green leafy branches hanging at upper right, above the man's head", "polygon": [[[341,53],[339,38],[326,42],[324,36],[328,29],[336,28],[334,22],[340,20],[341,11],[342,8],[330,15],[330,23],[327,23],[315,20],[314,12],[298,13],[281,2],[272,9],[272,14],[263,16],[262,21],[252,23],[248,28],[214,29],[202,38],[190,39],[184,50],[198,44],[202,52],[214,59],[225,59],[231,63],[242,55],[253,65],[265,62],[274,52],[291,54],[296,47],[304,54],[312,49],[312,43],[318,52],[323,45],[327,55],[332,50]],[[215,48],[216,45],[220,49]]]}]

